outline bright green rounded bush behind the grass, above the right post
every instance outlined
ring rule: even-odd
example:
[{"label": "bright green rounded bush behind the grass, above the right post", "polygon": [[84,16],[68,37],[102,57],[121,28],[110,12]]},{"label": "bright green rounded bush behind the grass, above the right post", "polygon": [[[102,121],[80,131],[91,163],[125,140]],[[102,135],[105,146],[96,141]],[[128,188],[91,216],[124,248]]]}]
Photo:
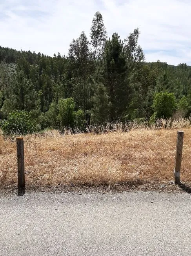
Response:
[{"label": "bright green rounded bush behind the grass, above the right post", "polygon": [[156,118],[172,117],[176,109],[176,99],[174,93],[156,93],[153,99],[153,109]]}]

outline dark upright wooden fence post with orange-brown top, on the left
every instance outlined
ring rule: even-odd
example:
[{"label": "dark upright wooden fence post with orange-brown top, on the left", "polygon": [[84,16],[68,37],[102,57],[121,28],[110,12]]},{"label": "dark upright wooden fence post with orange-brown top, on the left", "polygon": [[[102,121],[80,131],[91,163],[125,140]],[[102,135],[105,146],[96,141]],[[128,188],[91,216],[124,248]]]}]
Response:
[{"label": "dark upright wooden fence post with orange-brown top, on the left", "polygon": [[25,161],[23,138],[16,138],[17,168],[18,168],[18,189],[25,189]]}]

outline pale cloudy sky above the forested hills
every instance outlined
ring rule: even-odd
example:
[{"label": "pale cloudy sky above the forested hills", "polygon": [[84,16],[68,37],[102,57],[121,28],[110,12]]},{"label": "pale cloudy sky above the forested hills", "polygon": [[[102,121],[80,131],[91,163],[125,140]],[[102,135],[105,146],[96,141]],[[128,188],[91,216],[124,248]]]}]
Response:
[{"label": "pale cloudy sky above the forested hills", "polygon": [[100,11],[108,37],[139,28],[147,62],[191,65],[191,0],[0,0],[0,45],[67,55]]}]

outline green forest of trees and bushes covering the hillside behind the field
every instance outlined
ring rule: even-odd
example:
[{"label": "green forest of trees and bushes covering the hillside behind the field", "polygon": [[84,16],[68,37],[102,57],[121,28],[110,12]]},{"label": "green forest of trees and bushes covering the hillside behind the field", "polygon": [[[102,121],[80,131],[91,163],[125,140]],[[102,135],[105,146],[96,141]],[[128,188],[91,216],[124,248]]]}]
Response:
[{"label": "green forest of trees and bushes covering the hillside behind the field", "polygon": [[191,67],[146,63],[135,28],[107,37],[96,12],[67,56],[0,46],[0,127],[7,133],[90,124],[155,122],[191,114]]}]

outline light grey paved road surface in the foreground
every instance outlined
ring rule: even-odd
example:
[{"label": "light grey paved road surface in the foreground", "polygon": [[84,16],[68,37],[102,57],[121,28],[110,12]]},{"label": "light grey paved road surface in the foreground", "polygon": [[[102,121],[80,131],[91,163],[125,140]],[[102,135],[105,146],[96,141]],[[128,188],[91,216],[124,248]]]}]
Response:
[{"label": "light grey paved road surface in the foreground", "polygon": [[4,255],[190,256],[191,196],[0,196],[0,256]]}]

